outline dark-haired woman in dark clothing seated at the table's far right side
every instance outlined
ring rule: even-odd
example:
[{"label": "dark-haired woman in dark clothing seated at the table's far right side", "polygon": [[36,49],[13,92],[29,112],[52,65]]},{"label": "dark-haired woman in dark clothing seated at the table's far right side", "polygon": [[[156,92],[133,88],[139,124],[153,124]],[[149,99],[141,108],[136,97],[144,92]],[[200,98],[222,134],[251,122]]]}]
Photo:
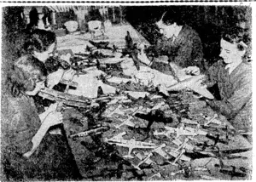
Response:
[{"label": "dark-haired woman in dark clothing seated at the table's far right side", "polygon": [[[162,14],[156,26],[163,35],[153,50],[158,55],[168,56],[168,62],[174,63],[179,67],[199,66],[202,69],[202,44],[197,32],[183,22],[181,14],[174,10],[166,11]],[[152,50],[152,47],[150,48]],[[147,50],[145,50],[147,52]],[[170,68],[170,65],[161,65],[153,61],[145,61],[145,64],[151,65],[156,70]],[[166,68],[165,68],[166,67]],[[171,68],[170,68],[171,69]]]}]

